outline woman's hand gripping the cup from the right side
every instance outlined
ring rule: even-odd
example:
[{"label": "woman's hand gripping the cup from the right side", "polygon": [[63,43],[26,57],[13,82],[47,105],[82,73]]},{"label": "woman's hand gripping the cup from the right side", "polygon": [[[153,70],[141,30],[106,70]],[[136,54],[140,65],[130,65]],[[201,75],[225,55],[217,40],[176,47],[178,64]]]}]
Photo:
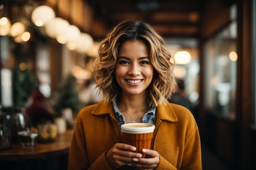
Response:
[{"label": "woman's hand gripping the cup from the right side", "polygon": [[150,149],[143,149],[142,152],[149,155],[150,158],[139,158],[138,161],[132,163],[132,166],[138,170],[155,170],[159,164],[158,152]]}]

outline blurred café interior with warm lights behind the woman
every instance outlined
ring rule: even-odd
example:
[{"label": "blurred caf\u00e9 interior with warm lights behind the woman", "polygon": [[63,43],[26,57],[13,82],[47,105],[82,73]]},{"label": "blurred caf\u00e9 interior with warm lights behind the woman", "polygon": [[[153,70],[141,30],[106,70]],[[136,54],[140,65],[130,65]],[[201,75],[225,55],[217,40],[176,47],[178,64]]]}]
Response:
[{"label": "blurred caf\u00e9 interior with warm lights behind the woman", "polygon": [[203,169],[256,169],[256,0],[0,0],[0,170],[67,169],[76,116],[102,99],[99,43],[128,19],[173,55]]}]

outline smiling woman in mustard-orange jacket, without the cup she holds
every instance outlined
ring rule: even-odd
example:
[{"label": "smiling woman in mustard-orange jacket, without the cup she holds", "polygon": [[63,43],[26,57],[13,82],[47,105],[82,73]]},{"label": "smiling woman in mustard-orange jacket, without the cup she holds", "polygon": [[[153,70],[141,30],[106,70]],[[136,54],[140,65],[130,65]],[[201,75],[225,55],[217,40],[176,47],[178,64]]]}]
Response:
[{"label": "smiling woman in mustard-orange jacket, without the cup she holds", "polygon": [[[175,84],[172,56],[147,23],[124,21],[101,42],[95,62],[99,104],[78,114],[69,170],[201,170],[198,126],[191,112],[170,104]],[[122,143],[126,123],[155,124],[150,158]],[[134,152],[135,151],[135,152]]]}]

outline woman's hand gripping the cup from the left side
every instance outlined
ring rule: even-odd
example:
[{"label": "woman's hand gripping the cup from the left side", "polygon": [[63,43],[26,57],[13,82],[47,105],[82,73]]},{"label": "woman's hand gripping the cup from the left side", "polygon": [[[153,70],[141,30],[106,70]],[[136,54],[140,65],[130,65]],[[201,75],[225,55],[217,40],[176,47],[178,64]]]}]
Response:
[{"label": "woman's hand gripping the cup from the left side", "polygon": [[120,166],[137,162],[142,155],[134,151],[136,151],[134,146],[121,143],[115,144],[106,154],[108,165],[115,170]]}]

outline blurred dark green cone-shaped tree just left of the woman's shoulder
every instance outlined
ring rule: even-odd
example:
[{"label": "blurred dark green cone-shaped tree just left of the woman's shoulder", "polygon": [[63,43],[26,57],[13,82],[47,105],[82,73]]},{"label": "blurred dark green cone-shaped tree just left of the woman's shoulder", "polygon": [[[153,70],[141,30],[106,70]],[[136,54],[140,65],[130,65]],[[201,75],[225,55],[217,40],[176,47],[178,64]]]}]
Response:
[{"label": "blurred dark green cone-shaped tree just left of the woman's shoulder", "polygon": [[57,101],[54,105],[54,109],[58,113],[61,113],[61,109],[63,108],[71,108],[74,112],[78,112],[80,110],[76,78],[71,74],[67,76],[63,86],[59,88]]}]

